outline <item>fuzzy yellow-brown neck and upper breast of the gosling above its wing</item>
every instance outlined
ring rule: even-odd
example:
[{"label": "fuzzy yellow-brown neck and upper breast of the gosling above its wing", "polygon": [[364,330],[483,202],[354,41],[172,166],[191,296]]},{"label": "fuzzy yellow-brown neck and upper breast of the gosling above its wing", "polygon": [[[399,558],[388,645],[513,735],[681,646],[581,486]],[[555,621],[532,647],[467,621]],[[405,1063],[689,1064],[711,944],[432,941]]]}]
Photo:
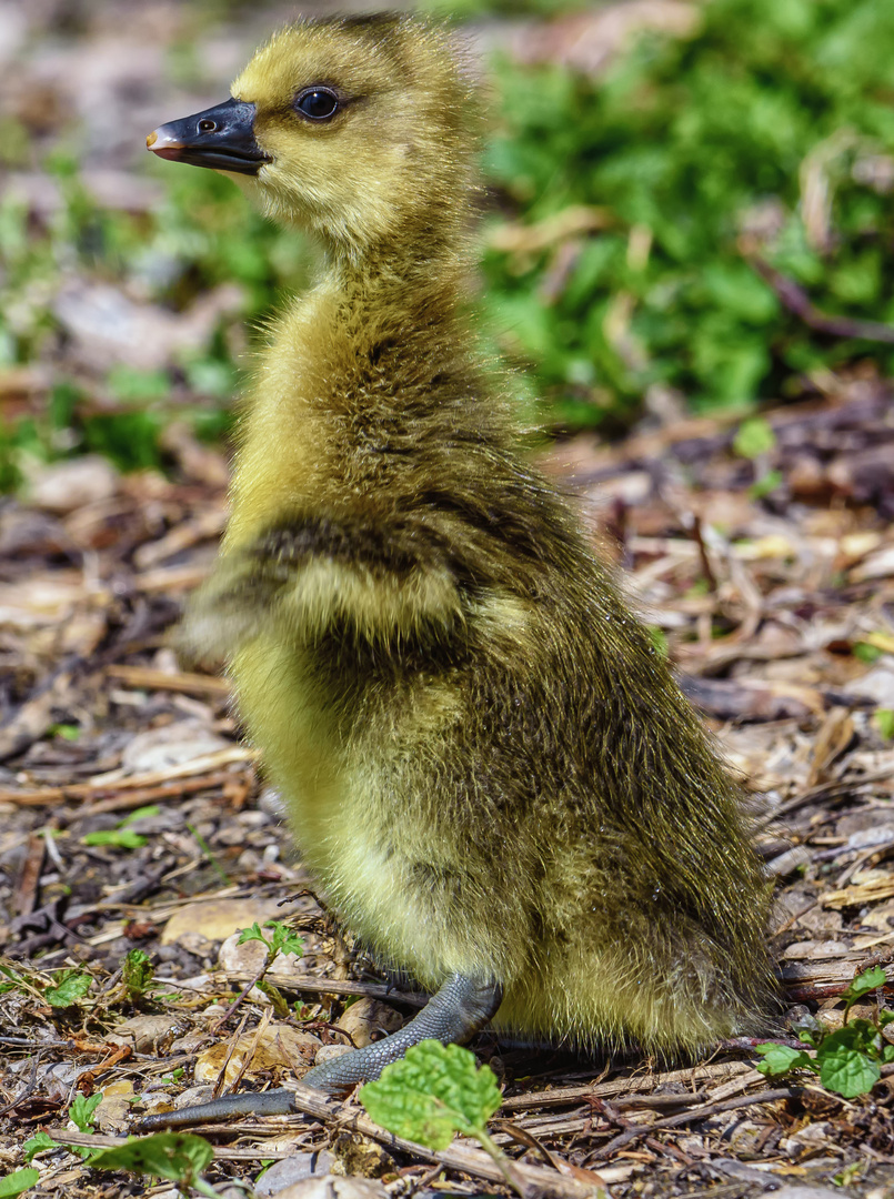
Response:
[{"label": "fuzzy yellow-brown neck and upper breast of the gosling above its wing", "polygon": [[444,239],[329,259],[272,325],[242,421],[227,546],[289,510],[394,487],[389,471],[422,441],[462,435],[463,423],[484,432],[466,278],[462,246]]}]

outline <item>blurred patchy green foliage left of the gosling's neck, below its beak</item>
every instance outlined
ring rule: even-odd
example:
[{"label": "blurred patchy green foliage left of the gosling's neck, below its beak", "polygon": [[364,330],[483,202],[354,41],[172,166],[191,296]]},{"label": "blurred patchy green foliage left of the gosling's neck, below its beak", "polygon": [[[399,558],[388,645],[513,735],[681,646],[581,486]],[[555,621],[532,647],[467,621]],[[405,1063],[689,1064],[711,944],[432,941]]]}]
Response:
[{"label": "blurred patchy green foliage left of the gosling's neck, below its beak", "polygon": [[[310,252],[252,212],[233,183],[199,168],[150,163],[164,183],[161,205],[144,215],[100,207],[72,159],[47,164],[62,203],[34,222],[14,199],[0,201],[0,370],[59,356],[53,300],[66,278],[125,283],[130,295],[175,312],[218,284],[236,283],[241,313],[223,318],[200,354],[170,367],[110,364],[97,382],[80,373],[56,381],[34,415],[0,415],[0,490],[14,489],[29,463],[84,451],[122,470],[163,468],[164,427],[186,420],[217,439],[232,422],[245,359],[244,323],[257,326],[287,288],[307,278]],[[65,353],[61,353],[65,370]]]}]

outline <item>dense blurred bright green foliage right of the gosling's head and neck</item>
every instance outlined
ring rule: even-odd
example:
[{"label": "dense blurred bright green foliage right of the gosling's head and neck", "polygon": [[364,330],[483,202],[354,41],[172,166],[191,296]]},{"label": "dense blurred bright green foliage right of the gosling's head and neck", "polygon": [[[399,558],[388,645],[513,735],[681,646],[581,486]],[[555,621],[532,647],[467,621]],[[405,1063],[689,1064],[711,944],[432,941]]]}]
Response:
[{"label": "dense blurred bright green foliage right of the gosling's head and neck", "polygon": [[749,263],[894,323],[890,0],[710,0],[695,36],[641,38],[606,78],[503,62],[498,92],[488,173],[521,219],[604,210],[601,231],[486,260],[557,421],[624,420],[650,384],[742,405],[859,355],[894,367],[811,332]]}]

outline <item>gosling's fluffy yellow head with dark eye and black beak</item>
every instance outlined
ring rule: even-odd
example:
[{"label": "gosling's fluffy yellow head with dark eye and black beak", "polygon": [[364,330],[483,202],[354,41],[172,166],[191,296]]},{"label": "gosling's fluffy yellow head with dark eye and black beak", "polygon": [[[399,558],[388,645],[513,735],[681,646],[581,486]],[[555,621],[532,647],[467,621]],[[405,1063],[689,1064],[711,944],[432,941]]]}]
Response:
[{"label": "gosling's fluffy yellow head with dark eye and black beak", "polygon": [[300,22],[256,53],[232,98],[146,145],[230,174],[269,216],[356,257],[450,223],[466,203],[474,107],[437,26]]}]

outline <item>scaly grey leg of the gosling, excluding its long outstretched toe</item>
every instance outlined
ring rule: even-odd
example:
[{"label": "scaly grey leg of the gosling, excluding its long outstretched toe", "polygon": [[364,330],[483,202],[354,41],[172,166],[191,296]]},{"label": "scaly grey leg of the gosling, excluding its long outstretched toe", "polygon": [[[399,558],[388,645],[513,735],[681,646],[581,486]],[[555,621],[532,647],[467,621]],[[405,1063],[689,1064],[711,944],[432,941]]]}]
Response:
[{"label": "scaly grey leg of the gosling, excluding its long outstretched toe", "polygon": [[397,1061],[420,1041],[466,1044],[496,1014],[502,999],[503,987],[492,978],[482,982],[466,975],[451,975],[419,1016],[400,1032],[314,1066],[301,1081],[328,1095],[338,1095],[356,1083],[378,1078],[385,1066]]}]

